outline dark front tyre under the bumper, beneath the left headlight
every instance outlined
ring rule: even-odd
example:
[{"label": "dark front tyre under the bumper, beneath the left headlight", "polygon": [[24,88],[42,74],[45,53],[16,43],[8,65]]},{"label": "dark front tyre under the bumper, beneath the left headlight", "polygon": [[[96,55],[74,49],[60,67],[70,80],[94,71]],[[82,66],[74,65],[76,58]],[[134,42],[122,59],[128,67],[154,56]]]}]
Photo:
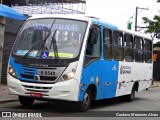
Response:
[{"label": "dark front tyre under the bumper, beneath the left headlight", "polygon": [[19,102],[23,106],[31,106],[34,102],[34,98],[31,97],[25,97],[25,96],[19,96]]}]

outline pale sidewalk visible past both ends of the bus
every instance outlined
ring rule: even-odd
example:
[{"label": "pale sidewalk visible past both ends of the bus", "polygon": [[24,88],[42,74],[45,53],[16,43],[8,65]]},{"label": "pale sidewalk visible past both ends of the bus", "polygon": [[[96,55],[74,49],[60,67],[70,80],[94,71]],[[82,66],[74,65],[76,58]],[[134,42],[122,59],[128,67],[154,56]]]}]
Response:
[{"label": "pale sidewalk visible past both ends of the bus", "polygon": [[[152,88],[153,87],[160,87],[160,81],[154,81]],[[18,97],[16,95],[10,95],[8,93],[7,85],[0,85],[0,103],[17,101],[17,100],[18,100]]]}]

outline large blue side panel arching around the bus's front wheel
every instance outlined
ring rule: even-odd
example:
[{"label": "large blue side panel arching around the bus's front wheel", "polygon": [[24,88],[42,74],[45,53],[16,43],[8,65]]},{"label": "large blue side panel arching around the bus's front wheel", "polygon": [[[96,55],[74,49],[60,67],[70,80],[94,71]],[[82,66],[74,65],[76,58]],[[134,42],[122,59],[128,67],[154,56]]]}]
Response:
[{"label": "large blue side panel arching around the bus's front wheel", "polygon": [[89,85],[96,86],[96,100],[116,96],[119,62],[97,60],[83,68],[79,101]]}]

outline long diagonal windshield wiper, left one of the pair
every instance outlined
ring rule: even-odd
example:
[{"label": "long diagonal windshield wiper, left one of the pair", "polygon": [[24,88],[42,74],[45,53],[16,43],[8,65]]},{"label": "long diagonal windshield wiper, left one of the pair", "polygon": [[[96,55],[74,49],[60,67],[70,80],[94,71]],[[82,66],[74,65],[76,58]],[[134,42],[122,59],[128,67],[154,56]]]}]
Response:
[{"label": "long diagonal windshield wiper, left one of the pair", "polygon": [[47,35],[43,40],[39,40],[39,41],[35,42],[35,43],[32,45],[32,48],[29,49],[28,52],[27,52],[25,55],[23,55],[23,57],[27,57],[28,54],[29,54],[34,48],[37,48],[40,44],[43,43],[43,45],[44,45],[44,43],[46,42],[46,40],[48,39],[48,37],[49,37],[50,34],[51,34],[51,29],[52,29],[55,21],[56,21],[56,19],[54,19],[54,21],[53,21],[53,23],[52,23],[52,25],[51,25],[51,28],[50,28],[50,30],[49,30],[48,35]]}]

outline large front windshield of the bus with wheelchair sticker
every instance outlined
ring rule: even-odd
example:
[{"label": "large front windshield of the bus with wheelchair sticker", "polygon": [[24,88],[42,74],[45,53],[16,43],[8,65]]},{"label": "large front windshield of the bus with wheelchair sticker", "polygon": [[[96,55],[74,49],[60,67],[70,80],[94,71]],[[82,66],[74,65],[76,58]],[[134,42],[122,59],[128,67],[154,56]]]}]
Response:
[{"label": "large front windshield of the bus with wheelchair sticker", "polygon": [[87,23],[70,19],[34,19],[24,25],[13,53],[40,59],[72,59],[78,56]]}]

